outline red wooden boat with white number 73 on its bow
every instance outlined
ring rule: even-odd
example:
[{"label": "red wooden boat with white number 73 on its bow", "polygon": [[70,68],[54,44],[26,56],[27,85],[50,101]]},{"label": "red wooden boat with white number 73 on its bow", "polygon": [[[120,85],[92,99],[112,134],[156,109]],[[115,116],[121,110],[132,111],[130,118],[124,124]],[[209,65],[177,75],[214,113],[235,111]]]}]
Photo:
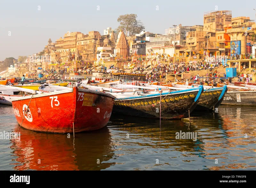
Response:
[{"label": "red wooden boat with white number 73 on its bow", "polygon": [[55,133],[73,132],[73,126],[75,132],[101,129],[113,105],[112,95],[77,87],[12,100],[19,124],[25,115],[23,128]]}]

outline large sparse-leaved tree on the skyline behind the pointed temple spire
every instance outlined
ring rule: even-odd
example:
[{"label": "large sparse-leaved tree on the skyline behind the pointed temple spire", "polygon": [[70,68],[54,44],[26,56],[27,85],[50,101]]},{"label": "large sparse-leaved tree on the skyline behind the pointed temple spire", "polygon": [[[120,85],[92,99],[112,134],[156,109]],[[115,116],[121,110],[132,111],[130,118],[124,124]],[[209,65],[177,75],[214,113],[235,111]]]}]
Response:
[{"label": "large sparse-leaved tree on the skyline behind the pointed temple spire", "polygon": [[117,21],[120,22],[117,29],[123,29],[126,36],[134,36],[145,29],[143,23],[140,20],[137,20],[137,14],[120,15],[117,18]]}]

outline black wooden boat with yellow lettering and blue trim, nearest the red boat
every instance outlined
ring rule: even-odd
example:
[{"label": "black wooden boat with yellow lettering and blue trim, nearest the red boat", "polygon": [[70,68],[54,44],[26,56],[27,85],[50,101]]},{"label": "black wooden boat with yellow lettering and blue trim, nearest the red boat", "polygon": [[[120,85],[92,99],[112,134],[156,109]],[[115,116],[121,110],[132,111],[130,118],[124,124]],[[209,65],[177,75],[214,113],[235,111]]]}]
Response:
[{"label": "black wooden boat with yellow lettering and blue trim, nearest the red boat", "polygon": [[112,93],[116,97],[113,112],[148,118],[184,118],[195,109],[202,92],[203,86],[181,91],[164,91],[161,95],[149,93],[132,96]]}]

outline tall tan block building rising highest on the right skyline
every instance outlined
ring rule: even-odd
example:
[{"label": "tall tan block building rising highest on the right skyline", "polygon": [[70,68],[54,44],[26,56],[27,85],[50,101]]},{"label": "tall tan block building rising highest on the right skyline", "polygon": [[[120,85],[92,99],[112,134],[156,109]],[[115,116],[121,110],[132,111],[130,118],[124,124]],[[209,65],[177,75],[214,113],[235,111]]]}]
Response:
[{"label": "tall tan block building rising highest on the right skyline", "polygon": [[212,11],[204,13],[204,31],[216,33],[223,31],[224,25],[231,24],[231,11]]}]

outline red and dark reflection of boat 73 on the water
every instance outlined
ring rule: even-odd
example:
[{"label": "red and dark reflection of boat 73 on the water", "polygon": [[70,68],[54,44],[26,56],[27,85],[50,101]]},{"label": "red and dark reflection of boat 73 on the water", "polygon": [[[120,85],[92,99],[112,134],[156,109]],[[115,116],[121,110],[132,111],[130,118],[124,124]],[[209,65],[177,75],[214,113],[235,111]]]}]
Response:
[{"label": "red and dark reflection of boat 73 on the water", "polygon": [[[90,133],[48,134],[20,129],[21,139],[12,145],[15,170],[101,170],[113,156],[108,128]],[[97,164],[97,160],[99,164]],[[40,163],[39,163],[40,162]]]}]

